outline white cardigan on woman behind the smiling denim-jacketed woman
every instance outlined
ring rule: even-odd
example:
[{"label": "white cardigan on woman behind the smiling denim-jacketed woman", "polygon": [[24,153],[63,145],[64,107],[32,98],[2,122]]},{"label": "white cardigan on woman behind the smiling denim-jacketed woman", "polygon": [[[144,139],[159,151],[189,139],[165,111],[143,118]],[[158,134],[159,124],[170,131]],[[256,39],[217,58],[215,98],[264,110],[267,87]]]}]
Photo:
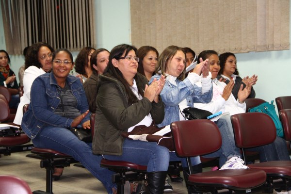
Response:
[{"label": "white cardigan on woman behind the smiling denim-jacketed woman", "polygon": [[21,120],[23,116],[23,106],[25,104],[30,103],[30,90],[32,87],[32,82],[37,78],[38,76],[46,73],[42,68],[37,68],[36,66],[30,66],[24,71],[23,75],[23,96],[20,97],[20,103],[17,108],[16,116],[13,121],[13,123],[17,125],[21,125]]}]

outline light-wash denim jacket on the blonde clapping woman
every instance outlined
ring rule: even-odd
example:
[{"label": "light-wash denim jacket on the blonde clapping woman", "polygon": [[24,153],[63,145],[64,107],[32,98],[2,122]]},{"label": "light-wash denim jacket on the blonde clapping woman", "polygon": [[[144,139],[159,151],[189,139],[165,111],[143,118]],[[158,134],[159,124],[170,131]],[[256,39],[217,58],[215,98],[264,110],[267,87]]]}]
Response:
[{"label": "light-wash denim jacket on the blonde clapping woman", "polygon": [[[149,84],[153,79],[157,78],[159,80],[160,77],[161,75],[154,75],[150,79]],[[157,125],[158,127],[170,125],[172,122],[180,120],[178,104],[185,98],[187,99],[187,106],[189,107],[194,107],[194,102],[208,103],[212,99],[212,86],[208,92],[201,94],[201,87],[192,85],[188,78],[183,81],[177,79],[176,84],[177,86],[166,80],[160,93],[165,106],[165,116],[162,123]]]}]

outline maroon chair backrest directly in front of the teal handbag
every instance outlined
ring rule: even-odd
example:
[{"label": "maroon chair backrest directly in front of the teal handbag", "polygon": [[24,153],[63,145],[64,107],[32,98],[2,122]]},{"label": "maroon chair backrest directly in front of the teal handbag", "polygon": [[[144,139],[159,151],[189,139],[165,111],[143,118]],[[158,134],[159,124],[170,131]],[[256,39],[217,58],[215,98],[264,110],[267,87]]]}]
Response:
[{"label": "maroon chair backrest directly in front of the teal handbag", "polygon": [[256,147],[275,141],[275,124],[268,114],[240,113],[230,118],[237,147]]}]

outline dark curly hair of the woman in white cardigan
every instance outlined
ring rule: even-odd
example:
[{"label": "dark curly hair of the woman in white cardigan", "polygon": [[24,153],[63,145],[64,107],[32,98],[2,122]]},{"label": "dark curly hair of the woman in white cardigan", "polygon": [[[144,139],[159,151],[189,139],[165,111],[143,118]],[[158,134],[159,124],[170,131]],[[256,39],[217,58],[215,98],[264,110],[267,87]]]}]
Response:
[{"label": "dark curly hair of the woman in white cardigan", "polygon": [[30,66],[36,66],[37,68],[41,67],[41,64],[38,61],[38,51],[41,47],[47,47],[52,53],[54,52],[54,49],[47,43],[44,42],[34,43],[32,46],[28,48],[27,53],[25,55],[24,69],[27,69]]}]

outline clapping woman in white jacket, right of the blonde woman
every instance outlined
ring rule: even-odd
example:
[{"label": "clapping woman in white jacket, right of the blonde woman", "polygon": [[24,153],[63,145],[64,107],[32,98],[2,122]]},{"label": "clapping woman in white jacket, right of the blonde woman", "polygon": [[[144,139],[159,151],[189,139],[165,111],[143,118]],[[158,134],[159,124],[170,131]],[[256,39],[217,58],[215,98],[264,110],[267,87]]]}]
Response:
[{"label": "clapping woman in white jacket, right of the blonde woman", "polygon": [[[209,103],[194,103],[194,107],[203,110],[217,113],[222,111],[223,113],[228,112],[230,115],[237,113],[245,113],[245,102],[244,100],[249,96],[251,92],[251,84],[243,88],[243,84],[240,85],[240,89],[237,93],[237,99],[232,94],[234,81],[230,80],[227,84],[217,80],[217,75],[220,70],[220,60],[218,54],[214,50],[204,50],[199,56],[202,59],[209,59],[210,72],[212,76],[213,85],[213,97]],[[201,83],[200,83],[201,84]],[[223,139],[226,144],[235,146],[233,130],[229,131],[229,138]],[[235,148],[237,149],[237,148]],[[249,151],[259,151],[260,162],[276,161],[276,160],[290,160],[286,142],[280,137],[276,137],[272,144],[259,146],[255,148],[248,148]],[[224,168],[230,166],[229,161]]]}]

